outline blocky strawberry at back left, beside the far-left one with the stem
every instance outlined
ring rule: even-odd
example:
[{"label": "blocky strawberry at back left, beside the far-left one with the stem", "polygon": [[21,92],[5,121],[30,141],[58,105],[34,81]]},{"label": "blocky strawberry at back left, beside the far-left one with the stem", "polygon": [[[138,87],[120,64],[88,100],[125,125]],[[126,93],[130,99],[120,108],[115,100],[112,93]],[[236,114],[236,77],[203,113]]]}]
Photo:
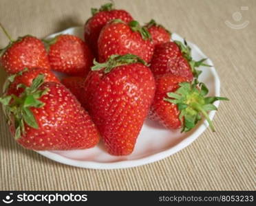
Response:
[{"label": "blocky strawberry at back left, beside the far-left one with the stem", "polygon": [[74,76],[87,76],[94,56],[87,44],[70,34],[47,41],[51,68]]}]

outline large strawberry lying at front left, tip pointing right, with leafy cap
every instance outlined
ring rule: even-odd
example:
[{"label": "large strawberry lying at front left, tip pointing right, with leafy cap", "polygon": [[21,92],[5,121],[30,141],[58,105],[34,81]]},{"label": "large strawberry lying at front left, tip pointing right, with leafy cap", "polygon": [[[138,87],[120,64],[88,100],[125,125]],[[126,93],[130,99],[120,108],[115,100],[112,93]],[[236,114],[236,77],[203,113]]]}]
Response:
[{"label": "large strawberry lying at front left, tip pointing right, with leafy cap", "polygon": [[19,95],[3,95],[0,102],[10,130],[23,147],[31,150],[92,148],[98,131],[74,95],[62,84],[37,76]]}]

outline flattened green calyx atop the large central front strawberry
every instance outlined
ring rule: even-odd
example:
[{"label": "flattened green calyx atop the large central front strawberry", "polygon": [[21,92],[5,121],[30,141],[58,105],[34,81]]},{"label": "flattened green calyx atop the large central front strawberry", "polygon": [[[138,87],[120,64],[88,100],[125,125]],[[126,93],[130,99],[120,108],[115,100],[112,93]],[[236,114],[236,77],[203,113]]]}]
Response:
[{"label": "flattened green calyx atop the large central front strawberry", "polygon": [[99,63],[94,59],[94,66],[91,68],[92,71],[99,71],[100,69],[104,69],[104,73],[109,73],[111,69],[114,67],[122,66],[122,65],[130,65],[134,63],[142,63],[143,65],[147,65],[145,60],[142,60],[140,57],[134,54],[125,54],[125,55],[117,55],[113,54],[109,57],[107,62]]}]

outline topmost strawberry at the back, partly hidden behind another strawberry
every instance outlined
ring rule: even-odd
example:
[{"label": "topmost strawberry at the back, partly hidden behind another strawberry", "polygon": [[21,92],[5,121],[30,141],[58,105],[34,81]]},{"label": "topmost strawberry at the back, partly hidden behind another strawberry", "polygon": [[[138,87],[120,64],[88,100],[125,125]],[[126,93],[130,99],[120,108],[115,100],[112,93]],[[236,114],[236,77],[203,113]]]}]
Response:
[{"label": "topmost strawberry at the back, partly hidden behind another strawberry", "polygon": [[98,54],[97,42],[100,30],[113,19],[121,19],[126,23],[133,20],[125,10],[114,9],[113,3],[106,3],[99,10],[92,8],[92,17],[85,23],[85,41],[95,54]]}]

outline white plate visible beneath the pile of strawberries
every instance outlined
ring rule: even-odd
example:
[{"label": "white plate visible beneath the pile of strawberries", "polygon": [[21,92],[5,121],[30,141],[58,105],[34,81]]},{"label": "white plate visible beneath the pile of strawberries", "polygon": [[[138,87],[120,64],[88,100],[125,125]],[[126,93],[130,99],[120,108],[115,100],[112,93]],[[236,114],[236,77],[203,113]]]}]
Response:
[{"label": "white plate visible beneath the pile of strawberries", "polygon": [[[83,27],[71,27],[63,32],[52,34],[50,37],[58,34],[74,34],[83,38]],[[178,34],[172,34],[173,40],[183,41],[183,38]],[[195,60],[207,58],[202,51],[193,43],[189,43],[192,56]],[[208,58],[206,63],[213,65],[213,62]],[[202,74],[200,80],[209,88],[209,95],[220,96],[220,80],[214,67],[200,67]],[[215,106],[220,104],[215,102]],[[213,119],[215,111],[211,111],[210,118]],[[180,133],[179,130],[167,130],[160,126],[157,122],[152,122],[149,119],[140,131],[137,143],[131,155],[116,157],[109,155],[102,144],[98,144],[95,148],[87,150],[69,150],[69,151],[37,151],[39,154],[67,165],[73,165],[80,168],[94,169],[116,169],[116,168],[131,168],[138,165],[145,165],[158,161],[173,155],[189,146],[206,130],[208,124],[206,120],[200,122],[196,128],[189,133]]]}]

